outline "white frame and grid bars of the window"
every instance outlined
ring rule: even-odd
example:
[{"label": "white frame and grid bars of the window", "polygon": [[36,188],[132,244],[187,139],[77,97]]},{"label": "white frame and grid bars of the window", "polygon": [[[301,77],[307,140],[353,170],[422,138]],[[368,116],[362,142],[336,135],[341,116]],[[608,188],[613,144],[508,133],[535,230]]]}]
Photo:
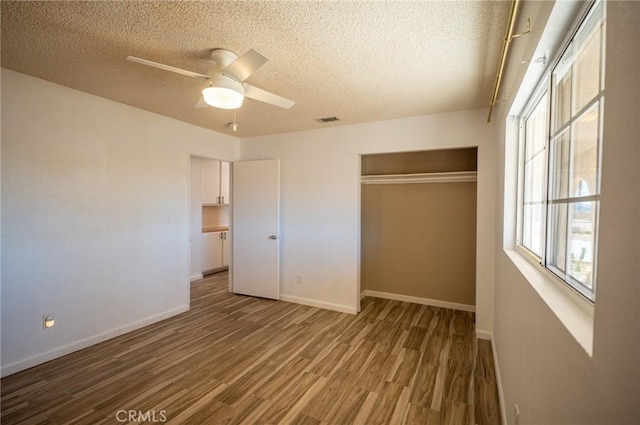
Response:
[{"label": "white frame and grid bars of the window", "polygon": [[[598,11],[598,9],[600,9]],[[595,26],[589,21],[592,18],[594,13],[598,13],[600,16]],[[586,26],[588,25],[588,26]],[[589,27],[591,26],[591,27]],[[599,27],[600,29],[600,50],[599,50],[599,87],[598,92],[586,102],[578,111],[573,112],[572,108],[574,105],[575,92],[574,92],[574,84],[575,80],[572,80],[572,89],[571,89],[571,100],[570,100],[570,115],[565,123],[562,125],[557,125],[557,85],[556,81],[554,81],[554,73],[559,66],[560,60],[564,57],[567,50],[571,47],[574,48],[573,45],[574,40],[584,34],[584,32],[592,31],[595,27]],[[586,29],[585,29],[586,28]],[[604,115],[604,104],[605,104],[605,87],[604,87],[604,73],[605,73],[605,59],[606,59],[606,49],[605,49],[605,37],[606,37],[606,0],[594,0],[589,3],[588,7],[586,7],[583,12],[579,15],[579,19],[576,20],[576,25],[574,26],[574,30],[568,37],[563,41],[560,45],[560,48],[557,50],[557,54],[551,63],[551,65],[543,72],[540,81],[536,85],[535,89],[531,93],[531,95],[527,98],[525,106],[522,110],[522,113],[519,114],[518,118],[518,164],[517,164],[517,205],[516,205],[516,240],[515,240],[515,249],[519,252],[527,261],[533,263],[536,268],[542,270],[545,275],[552,278],[552,281],[560,284],[561,288],[572,295],[574,299],[580,301],[580,303],[586,302],[586,307],[593,306],[595,304],[596,298],[596,275],[597,275],[597,256],[598,256],[598,233],[599,233],[599,215],[600,215],[600,185],[602,180],[602,146],[603,146],[603,115]],[[583,38],[582,43],[579,45],[580,52],[586,46],[586,38]],[[571,67],[573,68],[579,52],[575,52],[575,56],[571,61]],[[539,102],[546,96],[546,105],[545,105],[545,128],[544,128],[544,178],[543,178],[543,201],[542,201],[542,217],[541,217],[541,246],[540,246],[540,255],[536,254],[529,247],[523,245],[523,231],[524,231],[524,206],[525,206],[525,156],[526,156],[526,125],[527,120],[532,116],[532,114],[536,111]],[[566,199],[553,199],[551,194],[550,186],[554,184],[554,177],[551,175],[551,160],[552,160],[552,152],[551,149],[554,146],[552,141],[557,140],[561,137],[561,135],[565,131],[569,131],[569,168],[568,174],[569,179],[571,178],[571,169],[573,167],[574,158],[573,155],[573,134],[572,132],[574,124],[580,120],[580,118],[586,114],[592,107],[598,105],[598,123],[597,123],[597,159],[596,159],[596,188],[595,195],[591,195],[588,197],[578,197],[571,196],[570,193],[567,193]],[[580,199],[580,201],[572,201],[573,199]],[[560,202],[558,202],[560,201]],[[550,244],[554,241],[551,240],[551,230],[550,226],[552,225],[549,222],[549,216],[552,214],[551,209],[552,205],[563,204],[567,205],[569,208],[573,203],[576,202],[594,202],[594,214],[593,214],[593,269],[592,269],[592,288],[591,290],[588,287],[573,278],[570,274],[570,271],[562,271],[555,267],[553,264],[550,264],[550,260],[548,259],[548,253],[551,252]],[[567,229],[569,228],[569,212],[567,212]],[[565,250],[565,258],[567,255],[570,255],[571,248],[568,245],[564,247]],[[570,260],[565,259],[565,264],[567,264]],[[565,267],[566,268],[566,267]],[[576,297],[578,295],[578,297]]]}]

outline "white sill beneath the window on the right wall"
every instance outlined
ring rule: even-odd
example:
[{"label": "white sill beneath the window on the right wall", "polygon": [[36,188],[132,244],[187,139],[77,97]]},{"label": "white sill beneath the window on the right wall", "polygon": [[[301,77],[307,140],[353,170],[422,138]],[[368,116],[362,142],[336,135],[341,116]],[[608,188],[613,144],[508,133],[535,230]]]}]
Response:
[{"label": "white sill beneath the window on the right wall", "polygon": [[579,295],[516,250],[505,248],[504,251],[578,344],[592,357],[593,305],[580,299]]}]

